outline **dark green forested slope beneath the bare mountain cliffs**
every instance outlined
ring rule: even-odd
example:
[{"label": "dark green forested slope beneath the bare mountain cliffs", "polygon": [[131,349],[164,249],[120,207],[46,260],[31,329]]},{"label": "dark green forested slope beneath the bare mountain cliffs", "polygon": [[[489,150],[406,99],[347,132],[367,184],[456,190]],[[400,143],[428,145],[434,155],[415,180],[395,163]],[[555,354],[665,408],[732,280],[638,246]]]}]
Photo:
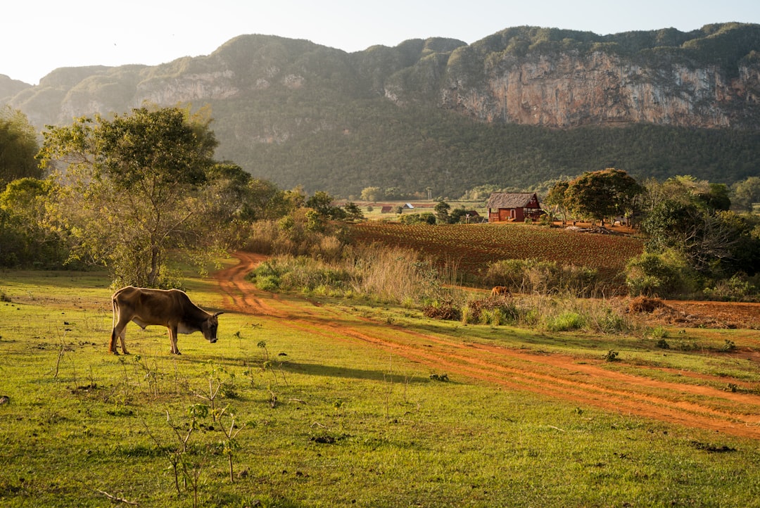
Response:
[{"label": "dark green forested slope beneath the bare mountain cliffs", "polygon": [[[348,116],[348,115],[347,115]],[[283,188],[303,185],[345,199],[364,188],[401,188],[405,197],[457,199],[471,188],[530,188],[562,175],[616,167],[638,180],[674,175],[732,184],[758,173],[760,132],[657,125],[568,131],[485,125],[437,109],[368,101],[346,125],[287,143],[231,150],[231,159]],[[225,151],[225,153],[227,153]]]}]

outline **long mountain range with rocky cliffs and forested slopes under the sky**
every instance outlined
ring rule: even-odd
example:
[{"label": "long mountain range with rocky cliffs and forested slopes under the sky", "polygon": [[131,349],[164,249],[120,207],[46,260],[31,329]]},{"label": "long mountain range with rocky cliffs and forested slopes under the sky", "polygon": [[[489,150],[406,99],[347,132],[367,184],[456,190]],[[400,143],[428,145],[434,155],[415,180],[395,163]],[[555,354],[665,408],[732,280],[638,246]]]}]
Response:
[{"label": "long mountain range with rocky cliffs and forested slopes under the sky", "polygon": [[453,198],[605,167],[730,184],[760,174],[760,25],[511,27],[352,53],[243,35],[163,65],[59,68],[36,86],[0,75],[2,103],[40,130],[144,103],[208,106],[217,158],[336,197]]}]

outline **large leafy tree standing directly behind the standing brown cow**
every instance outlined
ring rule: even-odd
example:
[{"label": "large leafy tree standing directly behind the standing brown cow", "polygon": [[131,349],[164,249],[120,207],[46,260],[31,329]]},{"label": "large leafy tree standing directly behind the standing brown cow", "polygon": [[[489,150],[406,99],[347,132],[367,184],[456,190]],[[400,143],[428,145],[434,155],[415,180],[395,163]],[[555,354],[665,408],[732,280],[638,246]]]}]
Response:
[{"label": "large leafy tree standing directly behind the standing brown cow", "polygon": [[116,283],[157,287],[171,283],[169,251],[209,248],[210,122],[144,107],[49,127],[40,160],[59,169],[57,218],[77,239],[74,256],[108,267]]}]

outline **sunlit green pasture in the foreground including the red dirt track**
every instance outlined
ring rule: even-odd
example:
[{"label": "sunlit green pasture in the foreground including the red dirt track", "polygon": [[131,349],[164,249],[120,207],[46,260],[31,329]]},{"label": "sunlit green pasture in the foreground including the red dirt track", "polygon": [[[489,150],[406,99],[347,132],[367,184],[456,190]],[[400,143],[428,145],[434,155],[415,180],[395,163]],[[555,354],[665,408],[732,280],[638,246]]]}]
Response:
[{"label": "sunlit green pasture in the foreground including the red dirt track", "polygon": [[[2,273],[0,506],[760,506],[757,330],[464,326],[261,292],[258,259],[188,279],[226,314],[180,356],[106,353],[98,273]],[[189,431],[210,399],[236,426]]]}]

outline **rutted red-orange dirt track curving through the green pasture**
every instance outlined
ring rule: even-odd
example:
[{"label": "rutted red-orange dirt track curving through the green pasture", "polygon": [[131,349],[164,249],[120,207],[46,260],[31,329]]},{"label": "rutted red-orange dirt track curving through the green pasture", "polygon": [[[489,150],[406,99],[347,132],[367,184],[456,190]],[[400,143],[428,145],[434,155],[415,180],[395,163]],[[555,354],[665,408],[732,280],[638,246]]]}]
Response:
[{"label": "rutted red-orange dirt track curving through the green pasture", "polygon": [[[328,319],[324,308],[315,312],[314,304],[308,301],[288,301],[256,289],[245,276],[264,256],[238,252],[236,257],[239,264],[215,274],[229,311],[277,319],[280,324],[328,339],[363,342],[426,365],[432,371],[445,371],[450,377],[468,377],[622,415],[760,439],[760,396],[622,374],[603,368],[601,360],[580,362],[567,355],[464,343],[340,309],[334,309]],[[686,371],[674,374],[746,386],[745,381],[731,377]]]}]

